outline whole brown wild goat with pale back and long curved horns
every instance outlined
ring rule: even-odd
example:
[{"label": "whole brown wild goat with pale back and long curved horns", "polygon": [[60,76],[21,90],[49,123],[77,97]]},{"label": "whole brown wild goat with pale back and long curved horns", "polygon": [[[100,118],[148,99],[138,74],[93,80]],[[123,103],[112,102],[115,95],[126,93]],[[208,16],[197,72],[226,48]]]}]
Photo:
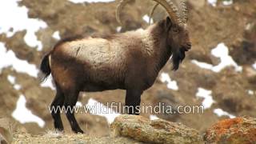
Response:
[{"label": "whole brown wild goat with pale back and long curved horns", "polygon": [[[130,0],[122,0],[120,10]],[[149,26],[146,30],[114,34],[109,38],[78,38],[62,40],[42,59],[44,80],[50,73],[57,94],[51,106],[75,106],[80,91],[126,90],[128,114],[138,114],[141,95],[154,84],[158,72],[172,55],[173,69],[178,70],[190,50],[186,30],[187,11],[184,2],[178,10],[170,0],[154,0],[165,7],[169,17]],[[52,113],[54,127],[63,130],[60,111]],[[74,114],[66,117],[75,133],[83,133]]]}]

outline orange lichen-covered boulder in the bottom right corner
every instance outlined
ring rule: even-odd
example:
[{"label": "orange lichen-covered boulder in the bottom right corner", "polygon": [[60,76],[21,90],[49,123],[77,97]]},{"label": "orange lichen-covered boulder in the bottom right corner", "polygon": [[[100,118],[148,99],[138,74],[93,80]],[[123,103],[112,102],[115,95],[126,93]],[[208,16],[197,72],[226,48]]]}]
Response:
[{"label": "orange lichen-covered boulder in the bottom right corner", "polygon": [[204,135],[206,143],[255,143],[256,118],[225,119],[211,126]]}]

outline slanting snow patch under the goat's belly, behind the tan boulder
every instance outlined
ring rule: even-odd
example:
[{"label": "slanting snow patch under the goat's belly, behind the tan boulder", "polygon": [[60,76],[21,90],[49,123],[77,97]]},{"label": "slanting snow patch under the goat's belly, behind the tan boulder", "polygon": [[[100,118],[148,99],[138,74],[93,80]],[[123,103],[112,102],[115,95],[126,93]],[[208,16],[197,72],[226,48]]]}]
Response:
[{"label": "slanting snow patch under the goat's belly, behind the tan boulder", "polygon": [[86,107],[90,110],[90,114],[105,117],[108,123],[114,122],[114,118],[120,115],[109,107],[104,106],[102,103],[97,102],[93,98],[89,99]]}]

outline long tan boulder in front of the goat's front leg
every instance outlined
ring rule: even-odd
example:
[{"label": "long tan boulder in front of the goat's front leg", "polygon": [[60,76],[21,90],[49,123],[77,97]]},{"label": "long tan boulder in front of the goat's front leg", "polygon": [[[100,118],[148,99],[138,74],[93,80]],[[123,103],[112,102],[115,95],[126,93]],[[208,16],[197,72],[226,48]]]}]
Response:
[{"label": "long tan boulder in front of the goat's front leg", "polygon": [[134,138],[146,143],[203,143],[198,131],[162,119],[150,121],[137,115],[121,115],[110,125],[112,137]]}]

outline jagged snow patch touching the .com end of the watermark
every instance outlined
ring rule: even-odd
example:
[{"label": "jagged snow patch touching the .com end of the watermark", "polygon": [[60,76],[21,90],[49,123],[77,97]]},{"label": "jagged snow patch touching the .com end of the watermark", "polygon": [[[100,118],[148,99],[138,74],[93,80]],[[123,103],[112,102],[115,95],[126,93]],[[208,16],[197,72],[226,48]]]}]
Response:
[{"label": "jagged snow patch touching the .com end of the watermark", "polygon": [[204,98],[202,101],[202,106],[204,107],[204,109],[209,109],[214,103],[214,99],[211,94],[212,94],[211,90],[205,90],[201,87],[198,88],[196,97]]}]

